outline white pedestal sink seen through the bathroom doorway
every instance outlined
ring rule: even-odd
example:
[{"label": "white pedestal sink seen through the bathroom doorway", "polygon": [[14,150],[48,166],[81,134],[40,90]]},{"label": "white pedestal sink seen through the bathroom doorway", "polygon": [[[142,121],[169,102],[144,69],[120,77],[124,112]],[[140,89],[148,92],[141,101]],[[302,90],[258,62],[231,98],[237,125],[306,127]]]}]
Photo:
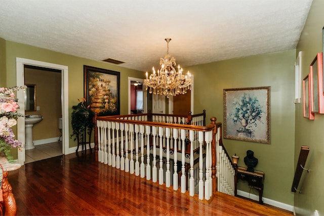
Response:
[{"label": "white pedestal sink seen through the bathroom doorway", "polygon": [[26,115],[25,116],[25,150],[35,148],[32,142],[32,126],[43,120],[42,115]]}]

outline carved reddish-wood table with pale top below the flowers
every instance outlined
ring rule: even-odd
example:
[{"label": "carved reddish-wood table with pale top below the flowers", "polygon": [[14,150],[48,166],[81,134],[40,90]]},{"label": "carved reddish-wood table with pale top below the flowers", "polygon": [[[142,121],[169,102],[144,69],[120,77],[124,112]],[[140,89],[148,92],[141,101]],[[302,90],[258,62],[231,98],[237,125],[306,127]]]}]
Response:
[{"label": "carved reddish-wood table with pale top below the flowers", "polygon": [[2,165],[3,168],[3,181],[1,184],[2,201],[0,202],[2,215],[16,215],[17,214],[16,200],[12,193],[11,185],[8,182],[8,175],[9,175],[9,171],[19,169],[21,167],[21,164],[9,163],[7,158],[4,155],[0,156],[0,164]]}]

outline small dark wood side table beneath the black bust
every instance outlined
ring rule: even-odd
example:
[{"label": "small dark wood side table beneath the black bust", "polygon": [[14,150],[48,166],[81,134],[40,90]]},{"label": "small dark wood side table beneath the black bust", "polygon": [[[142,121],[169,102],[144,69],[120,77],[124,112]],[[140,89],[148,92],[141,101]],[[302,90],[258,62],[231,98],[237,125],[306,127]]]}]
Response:
[{"label": "small dark wood side table beneath the black bust", "polygon": [[247,171],[246,167],[238,166],[237,180],[239,179],[247,181],[250,187],[259,191],[259,203],[262,204],[264,172],[257,170],[254,170],[254,172],[249,172]]}]

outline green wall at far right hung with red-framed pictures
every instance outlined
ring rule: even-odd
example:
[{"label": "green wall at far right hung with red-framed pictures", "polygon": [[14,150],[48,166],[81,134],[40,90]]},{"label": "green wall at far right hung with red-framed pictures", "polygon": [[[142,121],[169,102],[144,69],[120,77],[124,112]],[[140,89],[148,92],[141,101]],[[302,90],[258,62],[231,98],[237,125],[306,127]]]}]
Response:
[{"label": "green wall at far right hung with red-framed pictures", "polygon": [[[317,53],[323,52],[322,28],[324,26],[324,1],[313,1],[303,32],[301,34],[297,53],[302,52],[302,79],[309,73],[309,65]],[[301,83],[300,83],[301,84]],[[309,154],[305,167],[311,169],[303,172],[299,183],[301,194],[295,194],[295,210],[298,215],[324,215],[324,115],[315,114],[314,120],[303,118],[303,105],[296,105],[295,134],[295,168],[301,146],[309,146]]]}]

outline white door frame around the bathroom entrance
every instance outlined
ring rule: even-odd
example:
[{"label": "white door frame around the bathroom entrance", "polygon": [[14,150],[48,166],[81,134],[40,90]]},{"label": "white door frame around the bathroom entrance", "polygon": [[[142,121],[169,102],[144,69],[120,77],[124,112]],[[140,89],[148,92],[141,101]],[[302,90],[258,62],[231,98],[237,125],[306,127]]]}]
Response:
[{"label": "white door frame around the bathroom entrance", "polygon": [[[69,154],[69,114],[68,114],[68,67],[65,65],[52,64],[48,62],[35,61],[31,59],[16,58],[16,75],[17,86],[23,86],[24,81],[24,65],[32,65],[45,68],[53,68],[61,70],[61,101],[62,101],[62,153]],[[18,112],[25,114],[24,91],[17,92]],[[25,119],[18,118],[17,122],[17,138],[25,146]],[[24,165],[25,149],[18,151],[18,163]]]}]

